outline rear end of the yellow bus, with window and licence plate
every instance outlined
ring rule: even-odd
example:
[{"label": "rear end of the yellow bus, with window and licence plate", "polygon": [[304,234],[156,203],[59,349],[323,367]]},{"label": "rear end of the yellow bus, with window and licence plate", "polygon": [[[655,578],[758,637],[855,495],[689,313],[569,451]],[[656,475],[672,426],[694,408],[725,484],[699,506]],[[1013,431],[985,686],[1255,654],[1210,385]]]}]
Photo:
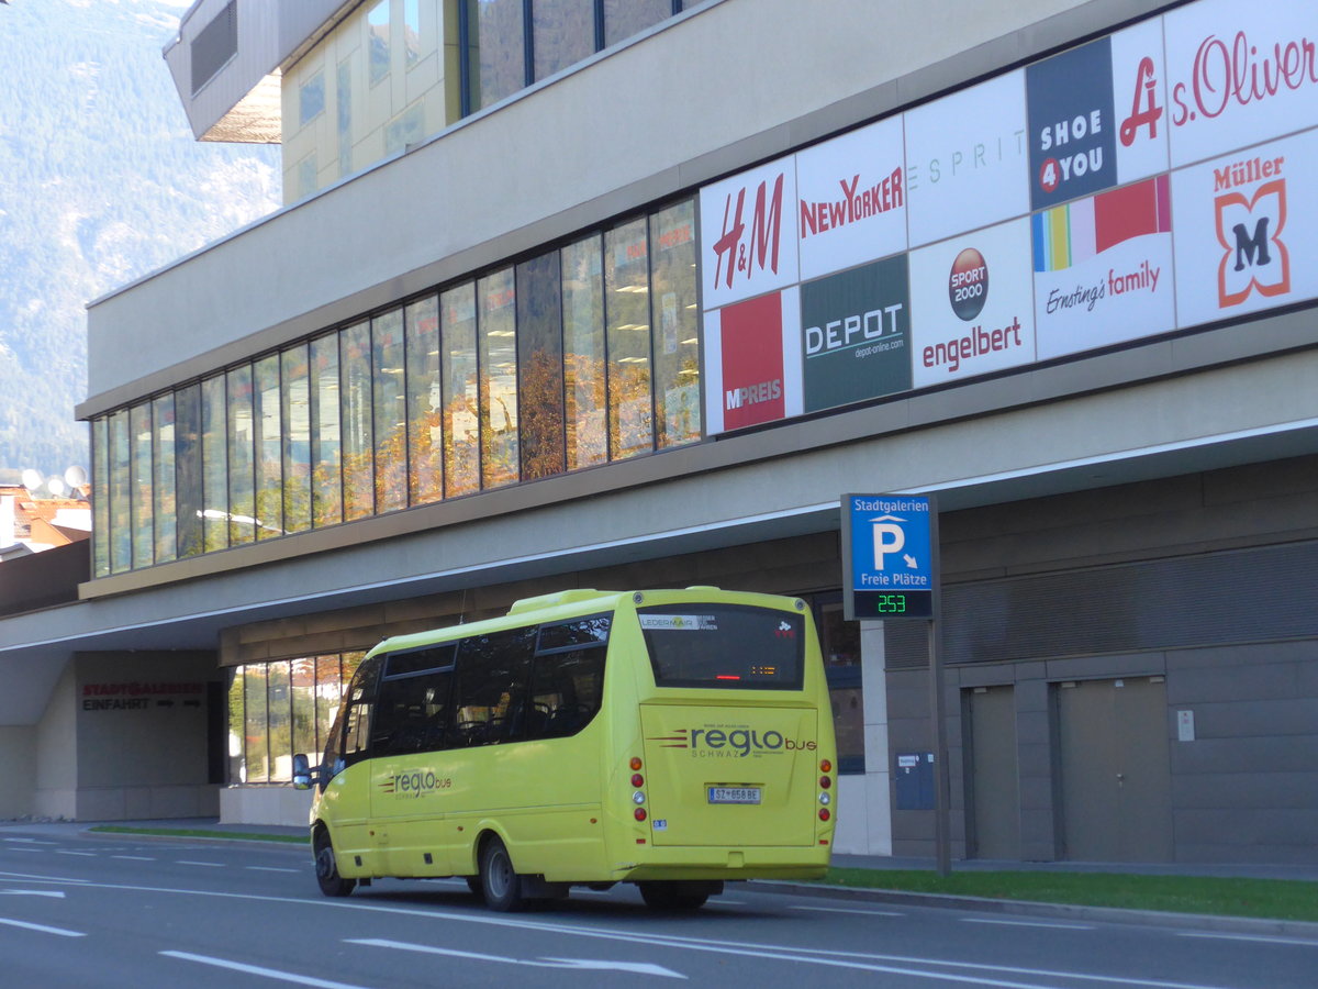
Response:
[{"label": "rear end of the yellow bus, with window and licence plate", "polygon": [[641,707],[654,844],[812,845],[820,713],[804,688],[807,616],[637,611],[655,679]]}]

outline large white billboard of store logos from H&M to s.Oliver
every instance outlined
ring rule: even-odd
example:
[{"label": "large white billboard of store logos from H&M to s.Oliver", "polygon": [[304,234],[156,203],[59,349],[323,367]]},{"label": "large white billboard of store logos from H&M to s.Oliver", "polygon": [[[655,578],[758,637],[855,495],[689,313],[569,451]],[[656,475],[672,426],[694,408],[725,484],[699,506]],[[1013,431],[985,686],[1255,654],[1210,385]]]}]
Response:
[{"label": "large white billboard of store logos from H&M to s.Oliver", "polygon": [[709,434],[1318,298],[1318,7],[1199,0],[700,191]]}]

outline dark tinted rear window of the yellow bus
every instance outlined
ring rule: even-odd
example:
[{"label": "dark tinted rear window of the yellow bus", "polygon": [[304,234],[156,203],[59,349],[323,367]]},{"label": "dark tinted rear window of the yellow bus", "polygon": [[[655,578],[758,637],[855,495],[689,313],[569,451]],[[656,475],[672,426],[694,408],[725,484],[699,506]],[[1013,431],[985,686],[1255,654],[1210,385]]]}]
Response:
[{"label": "dark tinted rear window of the yellow bus", "polygon": [[805,620],[729,604],[638,609],[659,687],[800,690]]}]

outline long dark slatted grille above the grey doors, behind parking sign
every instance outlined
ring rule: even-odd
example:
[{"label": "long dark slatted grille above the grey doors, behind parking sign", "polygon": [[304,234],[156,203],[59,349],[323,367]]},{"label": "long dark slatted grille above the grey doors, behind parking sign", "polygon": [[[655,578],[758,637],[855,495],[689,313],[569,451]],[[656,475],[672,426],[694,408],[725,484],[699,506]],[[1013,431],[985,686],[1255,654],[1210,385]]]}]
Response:
[{"label": "long dark slatted grille above the grey doors, behind parking sign", "polygon": [[[1318,543],[944,588],[948,663],[1318,637]],[[924,622],[890,621],[888,669],[928,662]]]}]

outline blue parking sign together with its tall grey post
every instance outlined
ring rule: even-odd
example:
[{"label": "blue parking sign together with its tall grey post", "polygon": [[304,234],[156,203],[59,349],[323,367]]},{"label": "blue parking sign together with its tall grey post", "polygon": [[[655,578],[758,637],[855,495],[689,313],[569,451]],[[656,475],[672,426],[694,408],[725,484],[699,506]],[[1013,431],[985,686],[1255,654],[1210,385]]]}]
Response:
[{"label": "blue parking sign together with its tall grey post", "polygon": [[938,509],[932,494],[842,496],[842,617],[923,618],[929,644],[933,734],[933,844],[940,876],[952,872],[946,703],[942,690]]}]

